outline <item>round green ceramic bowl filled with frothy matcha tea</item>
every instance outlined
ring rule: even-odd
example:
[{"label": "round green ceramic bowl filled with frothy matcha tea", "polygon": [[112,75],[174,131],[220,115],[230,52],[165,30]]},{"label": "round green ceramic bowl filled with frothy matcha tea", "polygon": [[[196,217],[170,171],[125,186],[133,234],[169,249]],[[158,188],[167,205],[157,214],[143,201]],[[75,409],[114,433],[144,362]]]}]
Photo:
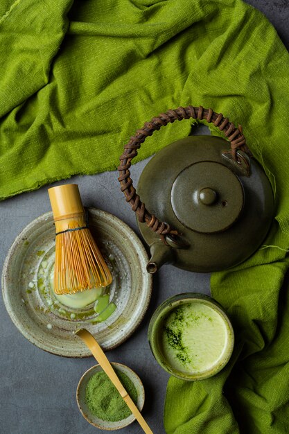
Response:
[{"label": "round green ceramic bowl filled with frothy matcha tea", "polygon": [[207,295],[170,297],[152,315],[148,340],[155,359],[182,380],[220,372],[234,347],[234,331],[222,306]]}]

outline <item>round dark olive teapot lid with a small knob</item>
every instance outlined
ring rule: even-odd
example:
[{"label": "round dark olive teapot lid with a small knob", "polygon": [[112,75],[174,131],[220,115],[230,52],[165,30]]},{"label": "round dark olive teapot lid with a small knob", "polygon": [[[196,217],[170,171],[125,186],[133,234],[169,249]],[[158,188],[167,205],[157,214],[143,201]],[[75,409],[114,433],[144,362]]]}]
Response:
[{"label": "round dark olive teapot lid with a small knob", "polygon": [[224,164],[197,162],[177,175],[170,202],[182,225],[206,234],[222,232],[240,216],[244,205],[243,185]]}]

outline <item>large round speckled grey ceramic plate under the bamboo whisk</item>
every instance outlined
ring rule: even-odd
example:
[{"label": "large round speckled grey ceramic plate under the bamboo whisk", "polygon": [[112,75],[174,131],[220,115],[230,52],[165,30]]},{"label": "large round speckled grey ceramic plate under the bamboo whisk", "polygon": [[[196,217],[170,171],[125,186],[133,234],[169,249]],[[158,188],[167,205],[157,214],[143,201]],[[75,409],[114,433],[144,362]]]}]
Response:
[{"label": "large round speckled grey ceramic plate under the bamboo whisk", "polygon": [[107,320],[98,322],[93,303],[71,309],[55,298],[51,212],[33,220],[17,236],[3,266],[3,300],[10,318],[30,342],[60,356],[91,356],[85,343],[73,335],[80,327],[96,336],[105,350],[120,345],[138,327],[150,301],[152,277],[146,272],[148,257],[137,235],[112,214],[88,211],[89,227],[113,275],[107,293],[116,310]]}]

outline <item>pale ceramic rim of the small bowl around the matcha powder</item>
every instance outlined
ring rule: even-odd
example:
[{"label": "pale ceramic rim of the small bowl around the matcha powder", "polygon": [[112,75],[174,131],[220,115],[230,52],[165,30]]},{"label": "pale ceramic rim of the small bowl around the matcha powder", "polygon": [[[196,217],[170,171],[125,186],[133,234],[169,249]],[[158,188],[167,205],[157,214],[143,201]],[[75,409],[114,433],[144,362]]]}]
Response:
[{"label": "pale ceramic rim of the small bowl around the matcha powder", "polygon": [[[129,377],[132,383],[134,383],[134,387],[137,389],[137,408],[139,408],[139,410],[141,411],[145,399],[145,392],[143,384],[141,383],[141,379],[139,379],[139,376],[137,376],[137,374],[135,374],[135,372],[133,372],[128,366],[121,365],[121,363],[112,363],[112,365],[116,371],[123,372]],[[100,372],[102,370],[103,369],[102,367],[100,367],[100,365],[95,365],[82,375],[78,383],[78,388],[76,390],[76,401],[78,403],[78,408],[80,409],[82,416],[87,419],[87,422],[89,422],[89,424],[91,425],[96,426],[96,428],[108,431],[124,428],[125,426],[128,426],[132,422],[134,422],[134,415],[130,415],[126,419],[119,420],[117,422],[109,422],[95,416],[93,413],[91,413],[89,407],[87,406],[85,399],[85,390],[87,387],[87,383],[89,379],[91,379],[91,376],[96,374],[96,372]]]}]

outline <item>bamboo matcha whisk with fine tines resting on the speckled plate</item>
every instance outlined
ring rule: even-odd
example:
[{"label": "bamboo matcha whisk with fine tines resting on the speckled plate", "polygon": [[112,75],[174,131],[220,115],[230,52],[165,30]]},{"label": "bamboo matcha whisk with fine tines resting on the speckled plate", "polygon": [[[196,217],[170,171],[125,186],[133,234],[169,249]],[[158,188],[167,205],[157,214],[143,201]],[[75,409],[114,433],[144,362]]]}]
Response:
[{"label": "bamboo matcha whisk with fine tines resting on the speckled plate", "polygon": [[49,189],[55,221],[56,294],[107,286],[112,275],[87,226],[77,184]]}]

